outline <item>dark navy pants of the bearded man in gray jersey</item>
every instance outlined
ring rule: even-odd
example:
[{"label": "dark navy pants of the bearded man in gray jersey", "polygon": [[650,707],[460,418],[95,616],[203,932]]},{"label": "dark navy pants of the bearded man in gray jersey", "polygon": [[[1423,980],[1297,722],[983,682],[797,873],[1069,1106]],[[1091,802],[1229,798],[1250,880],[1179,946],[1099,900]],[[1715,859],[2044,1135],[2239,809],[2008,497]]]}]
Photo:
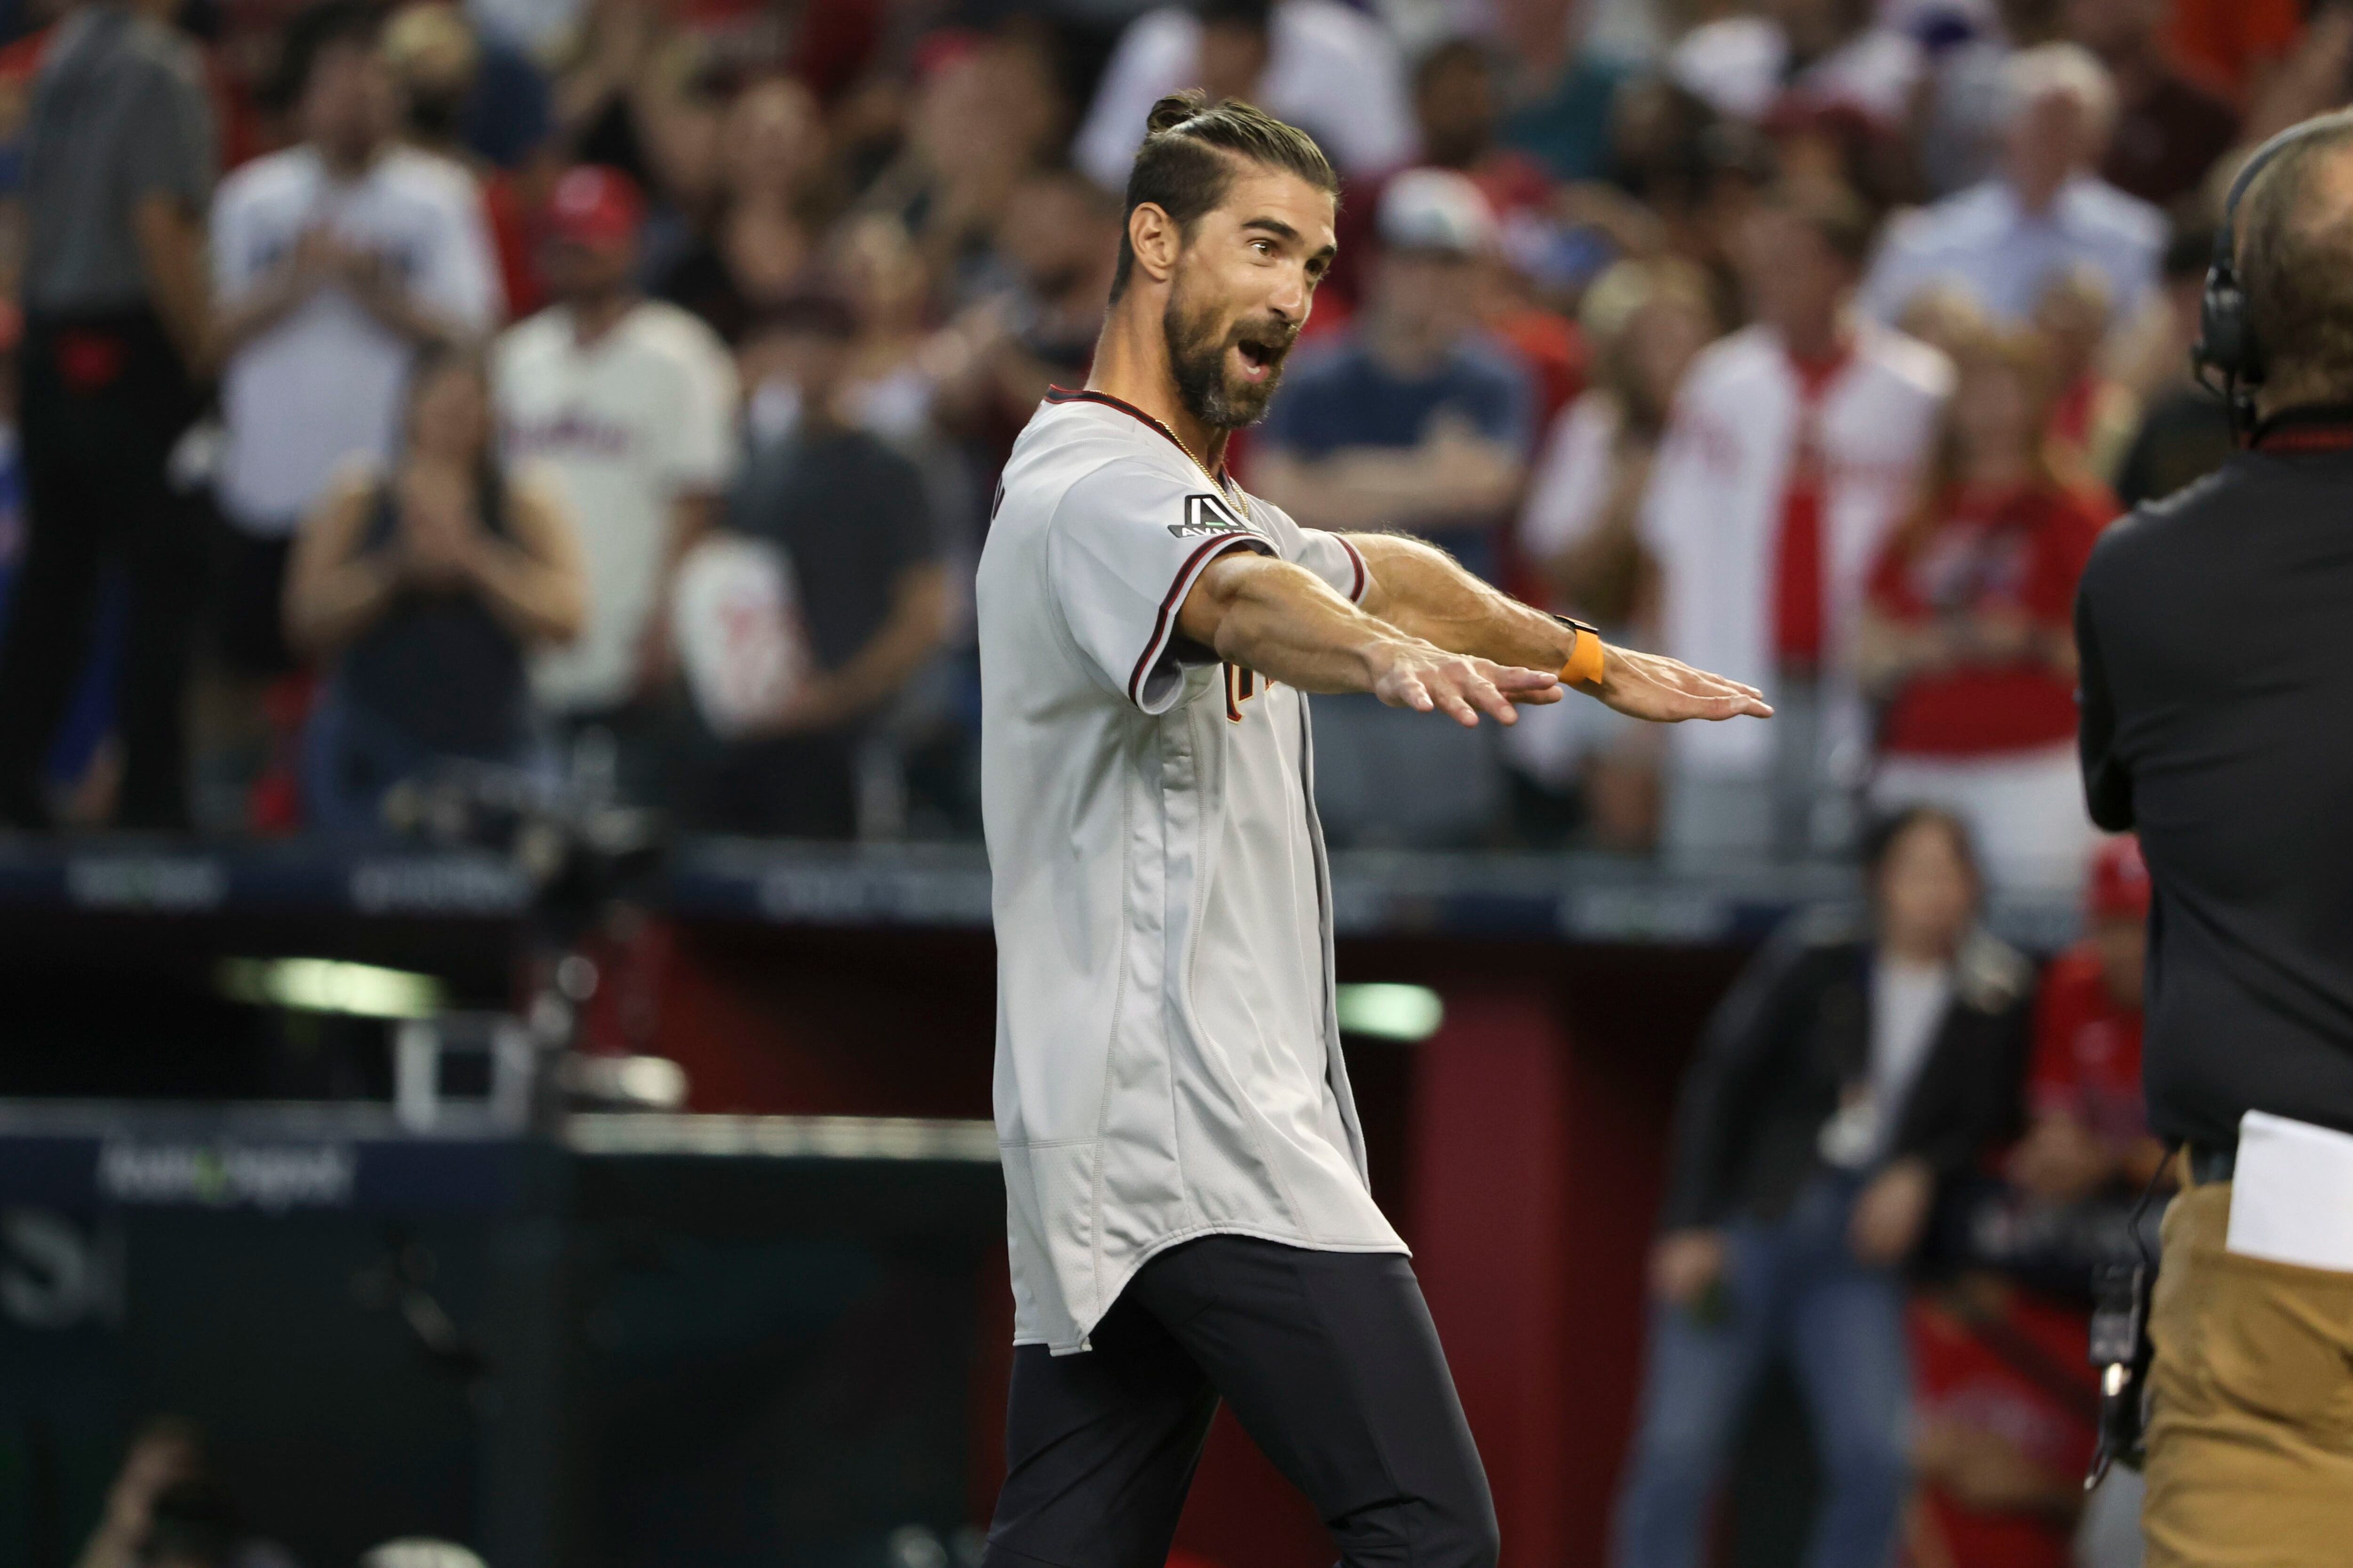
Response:
[{"label": "dark navy pants of the bearded man in gray jersey", "polygon": [[1089,1335],[1014,1349],[986,1568],[1162,1568],[1209,1418],[1308,1495],[1344,1568],[1492,1568],[1494,1502],[1412,1265],[1202,1237]]}]

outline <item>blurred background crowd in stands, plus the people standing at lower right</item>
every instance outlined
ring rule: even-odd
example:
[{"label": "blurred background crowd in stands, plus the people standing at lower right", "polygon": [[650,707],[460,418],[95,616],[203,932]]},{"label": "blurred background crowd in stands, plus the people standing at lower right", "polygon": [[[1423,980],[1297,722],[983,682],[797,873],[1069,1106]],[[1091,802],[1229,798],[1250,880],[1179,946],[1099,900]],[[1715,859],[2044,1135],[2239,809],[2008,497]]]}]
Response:
[{"label": "blurred background crowd in stands, plus the people standing at lower right", "polygon": [[[974,557],[1087,376],[1144,110],[1306,125],[1341,256],[1242,482],[1779,708],[1320,701],[1332,837],[1871,839],[1878,924],[1760,959],[1694,1077],[1624,1561],[1689,1561],[1777,1345],[1835,1561],[2066,1561],[2082,1312],[2000,1281],[2153,1166],[2073,588],[2228,454],[2186,367],[2219,188],[2353,96],[2353,5],[7,0],[0,35],[19,830],[372,832],[468,759],[685,827],[974,837]],[[2040,985],[1977,933],[2087,865]],[[1741,1279],[1777,1305],[1711,1326]]]}]

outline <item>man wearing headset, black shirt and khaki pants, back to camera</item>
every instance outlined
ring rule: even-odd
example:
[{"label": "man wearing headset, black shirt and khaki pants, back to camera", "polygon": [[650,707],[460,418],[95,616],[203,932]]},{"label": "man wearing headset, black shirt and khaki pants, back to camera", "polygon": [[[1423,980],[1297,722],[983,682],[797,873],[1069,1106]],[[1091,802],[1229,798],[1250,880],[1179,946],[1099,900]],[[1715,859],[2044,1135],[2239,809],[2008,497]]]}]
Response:
[{"label": "man wearing headset, black shirt and khaki pants, back to camera", "polygon": [[2111,529],[2075,607],[2092,818],[2155,884],[2151,1126],[2186,1145],[2151,1568],[2344,1563],[2353,1521],[2353,115],[2257,165],[2200,339],[2252,433]]}]

